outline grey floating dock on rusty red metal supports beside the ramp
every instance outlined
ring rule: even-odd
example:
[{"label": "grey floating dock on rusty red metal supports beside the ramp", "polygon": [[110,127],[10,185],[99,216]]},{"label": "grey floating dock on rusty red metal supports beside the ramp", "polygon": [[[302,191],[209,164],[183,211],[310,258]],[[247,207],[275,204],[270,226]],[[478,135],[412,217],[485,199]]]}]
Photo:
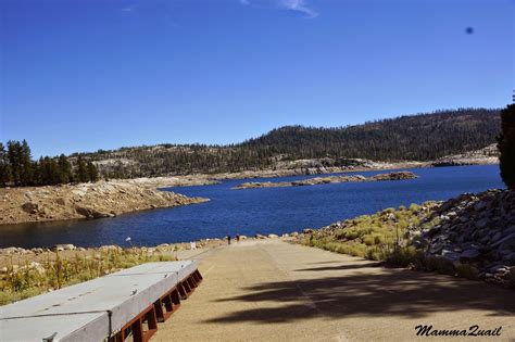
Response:
[{"label": "grey floating dock on rusty red metal supports beside the ramp", "polygon": [[196,261],[124,269],[0,307],[0,341],[147,341],[201,280]]}]

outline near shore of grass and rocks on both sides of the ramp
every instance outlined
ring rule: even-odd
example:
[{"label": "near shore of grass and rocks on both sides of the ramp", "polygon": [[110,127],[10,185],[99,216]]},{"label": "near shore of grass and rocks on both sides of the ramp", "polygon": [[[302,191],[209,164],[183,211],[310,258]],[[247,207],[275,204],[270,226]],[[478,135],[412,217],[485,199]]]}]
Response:
[{"label": "near shore of grass and rocks on both sides of the ramp", "polygon": [[[430,270],[513,286],[515,253],[510,249],[515,243],[515,227],[506,223],[513,221],[514,215],[511,211],[501,215],[500,207],[515,207],[515,192],[495,189],[464,193],[448,201],[427,201],[410,207],[401,205],[399,208],[385,208],[317,229],[305,228],[281,236],[240,236],[240,241],[292,242],[387,263],[393,267]],[[499,218],[502,219],[502,225],[497,224]],[[399,235],[402,241],[399,240],[398,250],[392,250],[391,240],[399,239]],[[238,244],[236,239],[231,244]],[[101,258],[102,254],[106,253],[109,256],[111,252],[161,259],[176,258],[178,252],[200,254],[224,245],[227,245],[226,238],[204,238],[153,246],[12,246],[0,249],[0,275],[24,269],[38,270],[43,263],[62,259]],[[385,252],[385,248],[389,248],[390,252]]]}]

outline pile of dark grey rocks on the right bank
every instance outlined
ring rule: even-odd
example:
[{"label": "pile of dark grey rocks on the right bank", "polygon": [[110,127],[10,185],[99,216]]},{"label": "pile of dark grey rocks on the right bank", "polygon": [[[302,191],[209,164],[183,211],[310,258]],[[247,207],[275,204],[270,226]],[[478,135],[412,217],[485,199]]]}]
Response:
[{"label": "pile of dark grey rocks on the right bank", "polygon": [[[437,225],[423,228],[435,219]],[[427,256],[468,263],[479,278],[501,280],[515,270],[515,191],[462,194],[441,204],[411,235]]]}]

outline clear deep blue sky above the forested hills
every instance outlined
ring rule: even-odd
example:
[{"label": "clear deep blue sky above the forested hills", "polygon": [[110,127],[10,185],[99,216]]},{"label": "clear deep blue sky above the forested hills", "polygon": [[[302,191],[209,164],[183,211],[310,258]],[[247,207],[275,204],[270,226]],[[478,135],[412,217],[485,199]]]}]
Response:
[{"label": "clear deep blue sky above the forested hills", "polygon": [[500,107],[514,89],[513,0],[0,0],[0,141],[25,138],[35,156]]}]

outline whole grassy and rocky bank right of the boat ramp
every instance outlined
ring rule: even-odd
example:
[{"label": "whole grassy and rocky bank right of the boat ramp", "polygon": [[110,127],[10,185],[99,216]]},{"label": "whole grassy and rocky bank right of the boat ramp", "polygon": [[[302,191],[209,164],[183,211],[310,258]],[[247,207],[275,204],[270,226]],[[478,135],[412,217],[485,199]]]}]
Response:
[{"label": "whole grassy and rocky bank right of the boat ramp", "polygon": [[515,191],[386,208],[304,230],[298,242],[515,288]]}]

